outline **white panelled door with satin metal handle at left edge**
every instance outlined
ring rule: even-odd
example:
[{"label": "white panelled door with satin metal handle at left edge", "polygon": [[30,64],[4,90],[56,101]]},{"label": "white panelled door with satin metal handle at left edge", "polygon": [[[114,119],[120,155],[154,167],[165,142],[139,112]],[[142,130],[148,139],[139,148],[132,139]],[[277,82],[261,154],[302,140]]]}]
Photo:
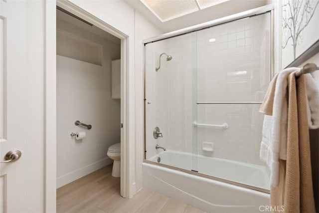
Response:
[{"label": "white panelled door with satin metal handle at left edge", "polygon": [[4,213],[25,212],[27,203],[23,154],[26,125],[32,124],[26,124],[25,17],[24,0],[0,0],[0,161],[9,151],[22,153],[16,161],[0,163],[0,212]]}]

